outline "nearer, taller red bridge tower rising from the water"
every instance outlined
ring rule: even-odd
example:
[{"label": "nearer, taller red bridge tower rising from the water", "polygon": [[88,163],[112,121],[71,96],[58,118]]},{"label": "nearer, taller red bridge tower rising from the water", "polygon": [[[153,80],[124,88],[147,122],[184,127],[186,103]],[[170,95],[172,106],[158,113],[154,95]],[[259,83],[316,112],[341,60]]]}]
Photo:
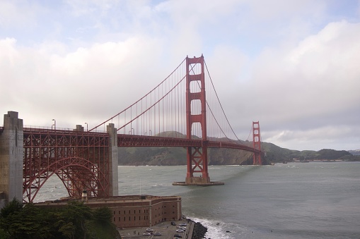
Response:
[{"label": "nearer, taller red bridge tower rising from the water", "polygon": [[[200,65],[201,72],[195,72]],[[187,147],[187,175],[185,184],[207,184],[210,183],[209,173],[207,170],[207,112],[205,98],[205,75],[204,75],[204,56],[189,58],[186,57],[186,128],[187,139],[192,138],[192,126],[199,123],[202,130],[202,147]],[[199,92],[194,92],[190,86],[196,82],[200,86]],[[196,84],[195,83],[195,84]],[[196,84],[196,85],[197,85]],[[198,100],[201,105],[201,113],[192,112],[192,103]],[[194,176],[199,173],[200,176]]]}]

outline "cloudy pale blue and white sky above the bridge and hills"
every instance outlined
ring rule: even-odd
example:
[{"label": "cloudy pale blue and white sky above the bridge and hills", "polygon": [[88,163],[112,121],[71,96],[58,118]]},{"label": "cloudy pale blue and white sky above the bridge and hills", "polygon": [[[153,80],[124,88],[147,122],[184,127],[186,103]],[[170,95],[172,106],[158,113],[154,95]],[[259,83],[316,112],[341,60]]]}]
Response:
[{"label": "cloudy pale blue and white sky above the bridge and hills", "polygon": [[360,149],[359,0],[0,0],[0,114],[95,126],[201,54],[240,139]]}]

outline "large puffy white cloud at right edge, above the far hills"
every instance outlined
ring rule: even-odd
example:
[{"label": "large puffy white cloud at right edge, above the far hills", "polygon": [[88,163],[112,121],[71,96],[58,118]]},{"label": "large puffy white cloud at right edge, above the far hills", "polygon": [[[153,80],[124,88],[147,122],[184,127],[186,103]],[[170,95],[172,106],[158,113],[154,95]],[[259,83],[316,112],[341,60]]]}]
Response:
[{"label": "large puffy white cloud at right edge, above the far hills", "polygon": [[354,90],[360,88],[359,32],[360,24],[330,23],[291,50],[264,51],[253,78],[259,94],[279,106],[275,111],[282,115],[307,117],[356,106],[360,102]]}]

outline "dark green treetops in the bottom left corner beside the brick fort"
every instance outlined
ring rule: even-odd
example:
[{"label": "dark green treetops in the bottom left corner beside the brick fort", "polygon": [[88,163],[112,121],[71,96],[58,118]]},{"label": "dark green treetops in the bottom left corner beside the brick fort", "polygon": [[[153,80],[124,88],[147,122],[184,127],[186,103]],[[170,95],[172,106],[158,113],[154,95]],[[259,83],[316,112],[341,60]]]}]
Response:
[{"label": "dark green treetops in the bottom left corner beside the brick fort", "polygon": [[0,238],[120,238],[111,219],[109,208],[83,202],[50,208],[14,199],[1,209]]}]

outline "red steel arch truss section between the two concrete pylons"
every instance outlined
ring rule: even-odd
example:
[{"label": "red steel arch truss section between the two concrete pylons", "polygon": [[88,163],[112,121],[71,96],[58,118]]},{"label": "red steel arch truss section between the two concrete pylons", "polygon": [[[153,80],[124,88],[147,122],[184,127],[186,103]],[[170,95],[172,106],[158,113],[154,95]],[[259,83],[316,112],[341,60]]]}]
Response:
[{"label": "red steel arch truss section between the two concrete pylons", "polygon": [[33,202],[52,175],[70,197],[108,196],[110,192],[109,135],[71,130],[24,128],[23,201]]}]

